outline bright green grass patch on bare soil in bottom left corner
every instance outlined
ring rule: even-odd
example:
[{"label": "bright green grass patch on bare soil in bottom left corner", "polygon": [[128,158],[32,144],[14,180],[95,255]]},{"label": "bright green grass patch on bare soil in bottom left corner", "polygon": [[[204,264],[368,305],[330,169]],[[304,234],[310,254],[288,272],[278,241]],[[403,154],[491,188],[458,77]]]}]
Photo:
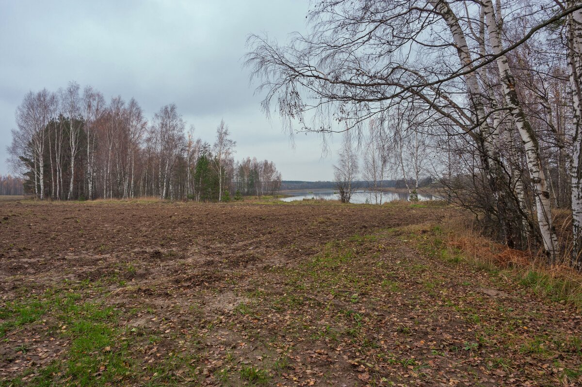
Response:
[{"label": "bright green grass patch on bare soil in bottom left corner", "polygon": [[124,330],[118,327],[118,312],[113,307],[83,302],[79,293],[53,290],[43,298],[9,303],[0,311],[7,320],[3,329],[29,324],[44,315],[56,321],[49,327],[53,336],[70,340],[68,352],[63,360],[38,368],[35,375],[5,381],[6,386],[105,386],[123,384],[130,376],[133,365],[128,342],[121,339]]}]

